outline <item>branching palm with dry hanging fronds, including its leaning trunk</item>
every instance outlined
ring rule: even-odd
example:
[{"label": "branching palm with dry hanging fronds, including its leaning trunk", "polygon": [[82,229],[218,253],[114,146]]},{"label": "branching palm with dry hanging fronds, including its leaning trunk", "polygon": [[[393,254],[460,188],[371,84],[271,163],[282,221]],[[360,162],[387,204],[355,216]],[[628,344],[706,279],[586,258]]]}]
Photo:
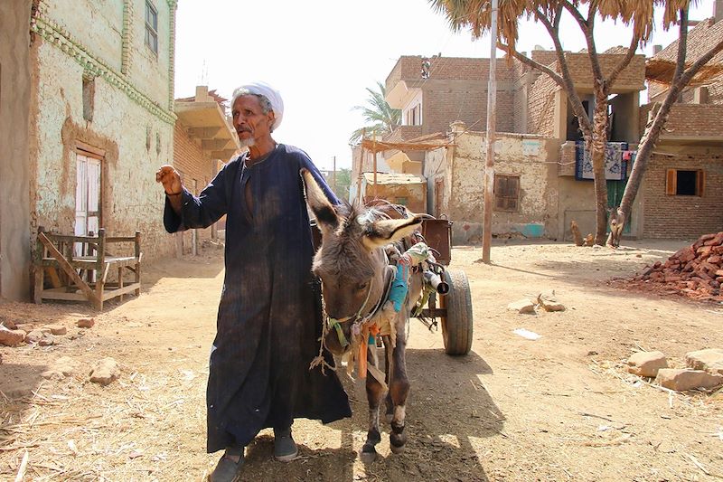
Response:
[{"label": "branching palm with dry hanging fronds, including its leaning trunk", "polygon": [[[603,244],[606,237],[607,187],[605,178],[605,148],[609,124],[607,98],[615,84],[615,80],[633,59],[638,45],[642,46],[650,39],[653,33],[654,8],[664,8],[663,28],[668,29],[672,24],[681,25],[681,43],[684,44],[684,39],[687,35],[688,8],[690,3],[694,1],[695,0],[626,0],[624,2],[618,0],[499,0],[499,34],[502,42],[498,43],[498,47],[525,65],[549,75],[561,89],[565,90],[568,95],[569,105],[577,117],[579,128],[585,138],[586,147],[591,153],[595,175],[596,244]],[[492,6],[489,0],[429,0],[429,2],[437,11],[446,15],[450,27],[455,31],[469,28],[472,30],[473,36],[479,38],[490,29]],[[587,41],[587,55],[592,66],[593,78],[595,79],[595,110],[592,120],[587,117],[587,112],[583,108],[582,102],[577,95],[575,82],[570,75],[568,61],[560,41],[559,24],[563,13],[570,14],[575,19]],[[600,64],[594,38],[597,16],[602,17],[604,20],[619,20],[623,24],[633,27],[633,36],[624,57],[612,70],[605,73]],[[521,52],[517,52],[515,43],[518,38],[518,20],[522,17],[533,18],[536,22],[544,25],[555,45],[555,51],[558,57],[557,70],[553,70],[553,68],[549,66],[533,61]],[[686,26],[686,28],[684,29],[683,26]],[[714,47],[711,52],[704,55],[704,57],[707,57],[709,60],[712,54],[719,52],[721,48],[723,48],[723,43],[718,43],[718,45]],[[685,61],[684,52],[682,57],[679,56],[678,61],[682,69]],[[695,71],[700,68],[700,65],[697,65],[698,63],[699,62],[696,62],[696,65],[691,66],[689,70],[686,71],[686,73],[690,73],[690,76],[677,77],[676,81],[678,82],[677,85],[679,89],[671,89],[669,96],[674,91],[680,93],[682,87],[690,81]],[[681,81],[684,83],[681,84]],[[666,103],[663,102],[663,107],[665,107],[665,104]],[[647,160],[643,158],[641,162],[640,153],[642,151],[645,156],[650,156],[650,151],[657,141],[664,119],[667,118],[667,112],[664,112],[663,116],[660,122],[653,122],[653,126],[657,129],[652,132],[649,127],[643,136],[643,144],[639,147],[639,154],[634,164],[640,165],[641,167],[638,168],[639,173],[634,172],[631,176],[631,181],[636,182],[627,184],[627,188],[625,189],[624,201],[622,203],[623,210],[626,210],[626,213],[624,213],[625,217],[628,217],[630,214],[629,206],[632,204],[631,197],[634,199],[634,195],[637,194],[640,175],[642,175],[642,170]],[[643,149],[643,146],[646,145],[644,143],[647,143],[650,148],[647,150]],[[630,189],[629,195],[628,188]]]}]

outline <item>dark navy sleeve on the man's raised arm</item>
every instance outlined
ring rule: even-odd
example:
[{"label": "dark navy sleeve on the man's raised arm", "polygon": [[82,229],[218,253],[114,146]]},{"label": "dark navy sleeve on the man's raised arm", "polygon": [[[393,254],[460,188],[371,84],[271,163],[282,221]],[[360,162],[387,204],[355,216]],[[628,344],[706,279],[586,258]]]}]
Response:
[{"label": "dark navy sleeve on the man's raised arm", "polygon": [[230,172],[236,169],[230,168],[235,162],[224,165],[219,174],[213,178],[211,183],[203,188],[198,197],[194,196],[185,187],[181,194],[181,213],[176,213],[171,206],[168,196],[165,198],[164,227],[167,232],[179,232],[187,229],[207,228],[214,222],[219,221],[228,211],[227,184],[232,183]]}]

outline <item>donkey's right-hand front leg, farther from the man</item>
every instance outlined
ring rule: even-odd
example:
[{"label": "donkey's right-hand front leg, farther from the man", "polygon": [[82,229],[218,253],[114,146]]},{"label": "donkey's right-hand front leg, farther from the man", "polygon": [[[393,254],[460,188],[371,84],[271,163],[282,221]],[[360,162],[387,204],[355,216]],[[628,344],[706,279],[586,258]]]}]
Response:
[{"label": "donkey's right-hand front leg, farther from the man", "polygon": [[[405,351],[407,339],[404,326],[407,320],[401,320],[397,329],[397,346],[392,353],[390,395],[394,404],[394,411],[391,418],[390,446],[391,451],[396,453],[404,449],[407,443],[407,434],[404,433],[405,409],[407,396],[409,394],[409,380],[407,378],[407,360]],[[401,326],[401,328],[399,328]]]}]

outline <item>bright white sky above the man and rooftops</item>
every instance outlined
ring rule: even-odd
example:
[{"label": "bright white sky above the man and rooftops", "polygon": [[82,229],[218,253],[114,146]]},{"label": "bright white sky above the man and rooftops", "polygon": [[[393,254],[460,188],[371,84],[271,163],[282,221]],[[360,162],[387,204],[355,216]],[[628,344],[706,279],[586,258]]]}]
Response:
[{"label": "bright white sky above the man and rooftops", "polygon": [[[712,0],[693,7],[690,19],[711,15]],[[571,18],[561,25],[563,47],[577,52],[585,41]],[[599,52],[630,43],[620,24],[598,24]],[[645,48],[663,46],[675,29],[658,28]],[[518,49],[545,49],[552,42],[544,27],[525,21]],[[453,34],[442,14],[425,0],[181,0],[176,17],[175,97],[190,97],[196,85],[230,98],[238,85],[265,80],[285,103],[277,142],[304,149],[321,169],[351,167],[348,139],[363,125],[366,88],[386,80],[401,55],[489,57],[489,36],[473,42]],[[498,56],[501,52],[498,52]],[[434,73],[434,72],[433,72]]]}]

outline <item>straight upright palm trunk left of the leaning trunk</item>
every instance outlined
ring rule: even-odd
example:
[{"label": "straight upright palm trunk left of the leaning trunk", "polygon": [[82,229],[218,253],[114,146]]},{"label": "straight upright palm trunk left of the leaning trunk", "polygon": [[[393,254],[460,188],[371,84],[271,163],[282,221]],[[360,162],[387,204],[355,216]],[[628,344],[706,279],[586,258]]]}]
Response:
[{"label": "straight upright palm trunk left of the leaning trunk", "polygon": [[605,176],[605,154],[607,145],[607,95],[598,91],[595,96],[593,114],[593,138],[586,142],[595,176],[595,243],[604,245],[607,233],[607,183]]}]

